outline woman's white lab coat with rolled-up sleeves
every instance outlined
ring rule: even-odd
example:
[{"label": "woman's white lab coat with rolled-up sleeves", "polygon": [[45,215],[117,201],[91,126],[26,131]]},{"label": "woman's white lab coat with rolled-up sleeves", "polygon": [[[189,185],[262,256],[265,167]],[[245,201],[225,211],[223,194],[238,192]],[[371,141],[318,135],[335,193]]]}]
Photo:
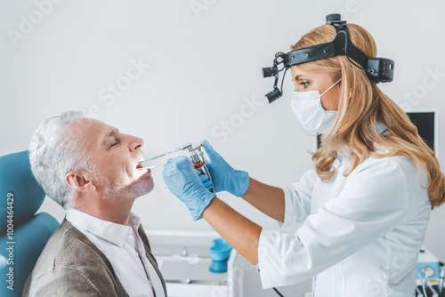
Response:
[{"label": "woman's white lab coat with rolled-up sleeves", "polygon": [[344,177],[346,165],[340,156],[332,181],[309,171],[283,189],[284,224],[263,229],[259,241],[264,289],[313,277],[316,297],[413,295],[431,214],[415,165],[406,157],[368,157]]}]

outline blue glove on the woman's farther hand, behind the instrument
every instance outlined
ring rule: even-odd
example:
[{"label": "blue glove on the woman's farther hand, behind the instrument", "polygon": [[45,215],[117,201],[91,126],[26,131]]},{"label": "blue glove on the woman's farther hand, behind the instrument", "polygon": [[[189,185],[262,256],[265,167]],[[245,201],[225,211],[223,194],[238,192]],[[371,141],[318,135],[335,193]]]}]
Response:
[{"label": "blue glove on the woman's farther hand, behind the instrument", "polygon": [[233,169],[223,157],[214,151],[207,140],[204,140],[204,149],[210,159],[206,165],[214,182],[214,190],[216,192],[228,191],[238,197],[246,194],[249,187],[249,174]]}]

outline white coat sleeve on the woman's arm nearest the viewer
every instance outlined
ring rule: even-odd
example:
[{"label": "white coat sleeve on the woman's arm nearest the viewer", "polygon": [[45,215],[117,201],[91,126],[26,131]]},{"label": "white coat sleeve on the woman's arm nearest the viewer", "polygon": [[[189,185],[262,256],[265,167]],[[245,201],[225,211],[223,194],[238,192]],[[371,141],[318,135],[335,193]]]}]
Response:
[{"label": "white coat sleeve on the woman's arm nearest the viewer", "polygon": [[264,289],[313,277],[405,221],[408,184],[401,165],[390,158],[362,165],[295,233],[263,229],[258,263]]}]

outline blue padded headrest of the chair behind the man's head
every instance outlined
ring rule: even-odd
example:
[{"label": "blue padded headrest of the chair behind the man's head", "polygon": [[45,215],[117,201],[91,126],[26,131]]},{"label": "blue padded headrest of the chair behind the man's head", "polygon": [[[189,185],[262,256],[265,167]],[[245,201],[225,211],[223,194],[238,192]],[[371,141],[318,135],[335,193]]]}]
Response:
[{"label": "blue padded headrest of the chair behind the man's head", "polygon": [[[0,157],[0,221],[7,221],[11,210],[14,226],[28,221],[44,202],[44,196],[44,189],[31,172],[28,150]],[[0,234],[6,229],[7,224],[0,224]]]}]

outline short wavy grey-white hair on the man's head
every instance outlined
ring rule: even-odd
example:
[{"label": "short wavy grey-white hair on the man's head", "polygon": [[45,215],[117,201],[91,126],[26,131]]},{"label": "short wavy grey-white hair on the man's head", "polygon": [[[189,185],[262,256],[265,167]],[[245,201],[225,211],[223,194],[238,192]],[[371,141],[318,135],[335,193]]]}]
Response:
[{"label": "short wavy grey-white hair on the man's head", "polygon": [[65,181],[66,174],[80,169],[96,172],[85,143],[63,135],[70,124],[81,118],[81,111],[53,116],[38,126],[29,143],[29,163],[36,181],[48,197],[63,207],[74,197],[74,190]]}]

